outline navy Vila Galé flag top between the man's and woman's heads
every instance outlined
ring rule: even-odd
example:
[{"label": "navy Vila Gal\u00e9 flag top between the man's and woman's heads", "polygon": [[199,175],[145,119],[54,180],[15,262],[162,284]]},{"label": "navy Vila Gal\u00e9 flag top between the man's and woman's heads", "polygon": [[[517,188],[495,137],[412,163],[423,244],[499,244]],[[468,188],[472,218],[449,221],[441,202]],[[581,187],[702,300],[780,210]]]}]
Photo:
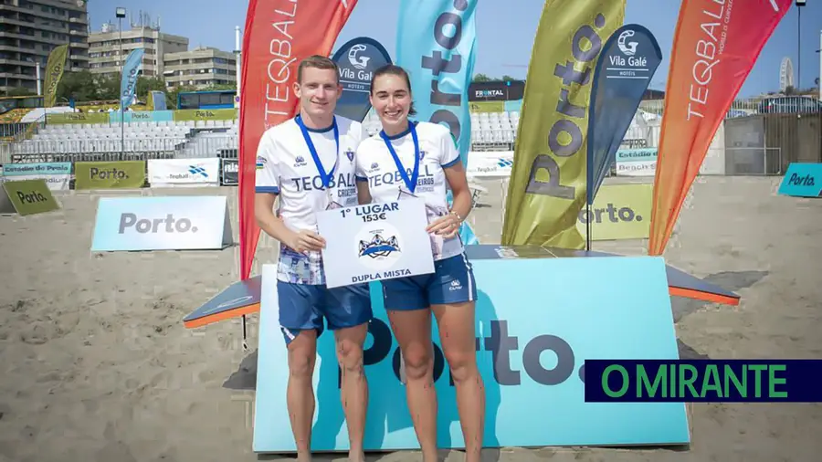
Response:
[{"label": "navy Vila Gal\u00e9 flag top between the man's and woman's heads", "polygon": [[332,60],[340,68],[342,85],[342,96],[337,100],[334,114],[361,122],[371,110],[368,95],[374,70],[391,64],[391,57],[374,38],[357,37],[340,47]]}]

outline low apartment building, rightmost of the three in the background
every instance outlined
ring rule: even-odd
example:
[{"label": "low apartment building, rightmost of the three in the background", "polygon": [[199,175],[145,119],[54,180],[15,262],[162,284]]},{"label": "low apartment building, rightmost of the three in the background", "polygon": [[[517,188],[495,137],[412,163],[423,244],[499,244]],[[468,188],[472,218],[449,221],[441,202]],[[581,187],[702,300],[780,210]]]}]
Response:
[{"label": "low apartment building, rightmost of the three in the background", "polygon": [[203,88],[237,82],[237,56],[214,47],[166,53],[163,60],[163,76],[169,89],[180,86]]}]

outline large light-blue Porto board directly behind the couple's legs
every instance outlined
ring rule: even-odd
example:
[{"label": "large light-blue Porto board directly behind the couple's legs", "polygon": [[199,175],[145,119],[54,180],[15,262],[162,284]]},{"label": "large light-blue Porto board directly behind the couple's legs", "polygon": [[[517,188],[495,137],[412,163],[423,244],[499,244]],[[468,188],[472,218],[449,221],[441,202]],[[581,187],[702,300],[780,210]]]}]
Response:
[{"label": "large light-blue Porto board directly behind the couple's legs", "polygon": [[[469,246],[467,253],[477,247],[490,246]],[[485,383],[484,447],[690,442],[683,403],[585,403],[586,360],[679,359],[662,258],[468,257],[478,292],[476,354]],[[283,373],[288,349],[277,317],[276,265],[263,266],[261,294],[253,450],[290,453],[296,447],[283,420],[288,415],[288,374]],[[374,320],[368,324],[364,370],[373,393],[364,449],[416,450],[406,386],[400,380],[400,349],[379,283],[371,284],[371,297]],[[550,302],[534,303],[539,297]],[[431,338],[439,403],[437,447],[461,449],[465,442],[453,377],[433,323]],[[311,448],[344,452],[348,433],[333,335],[321,335],[317,356]]]}]

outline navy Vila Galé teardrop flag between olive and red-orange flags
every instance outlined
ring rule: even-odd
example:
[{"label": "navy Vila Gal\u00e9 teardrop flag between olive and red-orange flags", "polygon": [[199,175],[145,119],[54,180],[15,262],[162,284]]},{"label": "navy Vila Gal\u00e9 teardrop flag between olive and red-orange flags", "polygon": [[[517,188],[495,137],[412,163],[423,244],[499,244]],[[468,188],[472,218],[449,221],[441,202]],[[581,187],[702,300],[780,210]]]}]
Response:
[{"label": "navy Vila Gal\u00e9 teardrop flag between olive and red-orange flags", "polygon": [[608,38],[594,69],[588,106],[587,203],[614,163],[639,102],[662,61],[650,31],[636,24],[619,27]]}]

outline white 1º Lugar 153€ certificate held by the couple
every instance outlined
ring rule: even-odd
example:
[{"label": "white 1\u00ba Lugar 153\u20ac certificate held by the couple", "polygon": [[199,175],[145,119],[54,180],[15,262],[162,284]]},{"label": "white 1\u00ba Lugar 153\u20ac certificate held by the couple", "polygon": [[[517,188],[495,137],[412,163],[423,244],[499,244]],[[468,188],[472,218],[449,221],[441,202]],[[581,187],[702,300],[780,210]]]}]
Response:
[{"label": "white 1\u00ba Lugar 153\u20ac certificate held by the couple", "polygon": [[322,262],[329,288],[434,272],[426,205],[420,199],[325,210]]}]

